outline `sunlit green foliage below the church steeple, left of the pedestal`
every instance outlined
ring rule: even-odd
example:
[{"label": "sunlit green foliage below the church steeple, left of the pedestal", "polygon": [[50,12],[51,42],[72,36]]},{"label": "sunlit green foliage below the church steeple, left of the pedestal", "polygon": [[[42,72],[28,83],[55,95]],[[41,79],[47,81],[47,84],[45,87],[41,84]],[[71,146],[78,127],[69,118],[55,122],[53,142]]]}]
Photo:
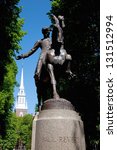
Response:
[{"label": "sunlit green foliage below the church steeple, left of the pedestal", "polygon": [[19,143],[31,149],[32,115],[17,117],[15,113],[10,116],[9,128],[6,129],[4,138],[0,137],[0,149],[13,150]]}]

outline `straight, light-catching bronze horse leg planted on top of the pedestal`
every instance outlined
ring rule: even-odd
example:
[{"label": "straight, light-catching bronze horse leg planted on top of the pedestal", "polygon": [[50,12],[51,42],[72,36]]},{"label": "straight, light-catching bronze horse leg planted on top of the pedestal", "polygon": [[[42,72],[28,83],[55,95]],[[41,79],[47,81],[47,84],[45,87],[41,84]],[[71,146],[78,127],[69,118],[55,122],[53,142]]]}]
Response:
[{"label": "straight, light-catching bronze horse leg planted on top of the pedestal", "polygon": [[48,72],[51,78],[51,84],[53,86],[53,98],[58,99],[59,95],[57,93],[56,90],[56,80],[55,80],[55,76],[54,76],[54,68],[52,64],[48,64]]}]

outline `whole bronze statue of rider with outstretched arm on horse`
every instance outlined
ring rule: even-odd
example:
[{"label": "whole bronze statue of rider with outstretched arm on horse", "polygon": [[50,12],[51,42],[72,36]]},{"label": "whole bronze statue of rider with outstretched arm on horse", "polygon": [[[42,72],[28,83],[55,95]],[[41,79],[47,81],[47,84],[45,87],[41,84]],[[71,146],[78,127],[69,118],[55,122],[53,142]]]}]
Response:
[{"label": "whole bronze statue of rider with outstretched arm on horse", "polygon": [[[66,50],[64,49],[64,17],[58,16],[57,18],[55,15],[52,15],[52,18],[55,22],[53,28],[42,28],[43,38],[41,40],[38,40],[28,53],[16,57],[17,60],[27,58],[32,55],[38,48],[41,48],[41,54],[34,75],[39,106],[41,105],[41,101],[46,100],[46,81],[48,81],[49,78],[53,87],[53,98],[56,100],[59,99],[59,94],[57,93],[56,89],[56,79],[54,72],[56,65],[62,67],[64,63],[67,62],[66,73],[71,77],[74,77],[74,74],[70,70],[70,62],[72,60],[71,55],[67,54]],[[52,40],[50,39],[51,31]]]}]

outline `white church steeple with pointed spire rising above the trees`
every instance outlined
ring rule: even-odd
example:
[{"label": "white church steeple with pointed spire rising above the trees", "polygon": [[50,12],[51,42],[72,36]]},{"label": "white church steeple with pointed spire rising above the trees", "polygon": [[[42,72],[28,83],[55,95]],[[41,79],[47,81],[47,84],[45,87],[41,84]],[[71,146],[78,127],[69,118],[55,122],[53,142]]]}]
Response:
[{"label": "white church steeple with pointed spire rising above the trees", "polygon": [[20,87],[16,100],[16,115],[24,116],[25,114],[27,114],[27,110],[28,108],[27,108],[26,94],[24,90],[24,73],[22,67]]}]

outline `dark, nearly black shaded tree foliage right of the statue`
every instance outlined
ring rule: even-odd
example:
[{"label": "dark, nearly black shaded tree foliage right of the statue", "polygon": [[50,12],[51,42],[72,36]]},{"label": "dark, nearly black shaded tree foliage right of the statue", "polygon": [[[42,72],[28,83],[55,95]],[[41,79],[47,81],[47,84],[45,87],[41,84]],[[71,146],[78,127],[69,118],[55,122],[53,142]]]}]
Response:
[{"label": "dark, nearly black shaded tree foliage right of the statue", "polygon": [[65,49],[72,55],[72,71],[77,75],[60,82],[60,95],[81,113],[87,150],[92,150],[99,146],[100,4],[98,0],[51,2],[48,14],[65,18]]}]

